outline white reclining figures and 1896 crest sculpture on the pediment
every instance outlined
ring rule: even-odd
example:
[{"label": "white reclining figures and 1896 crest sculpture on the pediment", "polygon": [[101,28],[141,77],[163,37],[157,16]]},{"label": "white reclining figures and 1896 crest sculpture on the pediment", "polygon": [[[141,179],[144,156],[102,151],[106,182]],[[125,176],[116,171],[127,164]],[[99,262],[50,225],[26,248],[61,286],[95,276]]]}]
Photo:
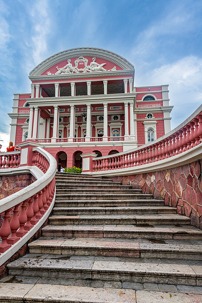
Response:
[{"label": "white reclining figures and 1896 crest sculpture on the pediment", "polygon": [[[57,72],[55,74],[52,74],[50,71],[48,71],[46,74],[47,75],[63,75],[63,74],[73,74],[73,73],[86,73],[86,72],[111,72],[111,71],[116,71],[116,66],[113,68],[107,70],[103,66],[106,65],[106,63],[98,64],[95,62],[96,58],[92,58],[92,62],[90,65],[88,65],[88,59],[84,58],[82,56],[78,57],[78,59],[75,60],[75,66],[71,64],[71,60],[67,60],[67,64],[64,67],[57,68]],[[83,62],[84,63],[84,68],[78,68],[78,63]]]}]

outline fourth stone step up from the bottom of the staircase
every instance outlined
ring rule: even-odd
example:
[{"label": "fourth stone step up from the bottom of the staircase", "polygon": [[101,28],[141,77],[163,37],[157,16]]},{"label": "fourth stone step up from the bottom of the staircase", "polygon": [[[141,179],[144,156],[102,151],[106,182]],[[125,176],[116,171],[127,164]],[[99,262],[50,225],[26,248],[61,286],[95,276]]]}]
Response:
[{"label": "fourth stone step up from the bottom of the staircase", "polygon": [[[147,227],[145,227],[147,226]],[[42,235],[48,237],[184,239],[202,240],[202,230],[189,225],[47,225]]]}]

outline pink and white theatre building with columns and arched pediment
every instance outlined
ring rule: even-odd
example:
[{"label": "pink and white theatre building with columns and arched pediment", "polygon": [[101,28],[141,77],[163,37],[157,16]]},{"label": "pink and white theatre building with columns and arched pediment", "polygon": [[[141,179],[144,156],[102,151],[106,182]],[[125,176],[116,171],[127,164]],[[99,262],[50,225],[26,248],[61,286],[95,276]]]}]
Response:
[{"label": "pink and white theatre building with columns and arched pediment", "polygon": [[100,48],[52,55],[30,72],[31,92],[14,94],[10,141],[35,140],[58,170],[154,141],[171,130],[168,85],[136,87],[134,72]]}]

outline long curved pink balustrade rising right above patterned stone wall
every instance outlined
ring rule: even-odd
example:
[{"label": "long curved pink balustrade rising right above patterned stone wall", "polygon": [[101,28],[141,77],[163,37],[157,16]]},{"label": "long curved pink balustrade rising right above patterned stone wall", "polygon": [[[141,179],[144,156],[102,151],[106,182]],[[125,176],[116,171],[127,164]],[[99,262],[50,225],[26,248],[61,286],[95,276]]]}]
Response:
[{"label": "long curved pink balustrade rising right above patterned stone wall", "polygon": [[93,158],[93,171],[129,168],[160,161],[181,154],[202,142],[202,111],[200,106],[185,122],[167,135],[140,148]]}]

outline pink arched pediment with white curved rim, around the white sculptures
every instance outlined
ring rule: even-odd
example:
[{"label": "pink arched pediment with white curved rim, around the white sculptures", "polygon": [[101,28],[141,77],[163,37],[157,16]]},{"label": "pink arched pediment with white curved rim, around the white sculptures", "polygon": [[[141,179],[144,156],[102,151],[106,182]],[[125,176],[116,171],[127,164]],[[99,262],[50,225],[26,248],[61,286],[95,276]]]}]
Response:
[{"label": "pink arched pediment with white curved rim, around the white sculptures", "polygon": [[104,63],[104,65],[106,66],[104,67],[107,70],[113,70],[114,67],[117,70],[134,69],[134,65],[132,65],[125,58],[121,57],[120,55],[114,52],[110,52],[102,48],[78,47],[59,52],[45,59],[44,61],[39,63],[35,68],[33,68],[29,75],[47,75],[47,72],[51,72],[53,74],[57,72],[56,66],[58,65],[58,67],[61,68],[62,65],[67,64],[68,59],[71,59],[71,64],[73,65],[73,67],[75,67],[77,63],[77,61],[75,63],[75,60],[78,60],[79,57],[87,58],[88,64],[90,64],[92,58],[95,57],[96,62],[98,62],[98,64]]}]

